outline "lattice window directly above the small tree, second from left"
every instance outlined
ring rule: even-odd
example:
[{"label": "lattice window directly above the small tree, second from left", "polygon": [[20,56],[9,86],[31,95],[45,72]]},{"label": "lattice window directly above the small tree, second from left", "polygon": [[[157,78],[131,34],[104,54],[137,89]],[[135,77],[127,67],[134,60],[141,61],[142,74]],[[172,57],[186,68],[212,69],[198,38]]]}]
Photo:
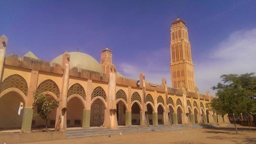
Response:
[{"label": "lattice window directly above the small tree, second from left", "polygon": [[41,84],[39,84],[37,88],[37,92],[52,92],[54,93],[58,98],[60,96],[60,90],[57,86],[57,84],[52,80],[45,80]]}]

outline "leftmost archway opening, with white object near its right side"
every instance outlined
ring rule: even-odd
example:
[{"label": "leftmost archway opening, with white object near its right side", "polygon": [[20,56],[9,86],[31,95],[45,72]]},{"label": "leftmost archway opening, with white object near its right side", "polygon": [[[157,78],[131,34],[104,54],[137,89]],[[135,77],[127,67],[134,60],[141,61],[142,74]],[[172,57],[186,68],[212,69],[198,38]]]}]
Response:
[{"label": "leftmost archway opening, with white object near its right side", "polygon": [[[23,102],[23,109],[18,115],[20,103]],[[14,91],[8,92],[0,97],[0,130],[21,128],[25,101],[23,97]]]}]

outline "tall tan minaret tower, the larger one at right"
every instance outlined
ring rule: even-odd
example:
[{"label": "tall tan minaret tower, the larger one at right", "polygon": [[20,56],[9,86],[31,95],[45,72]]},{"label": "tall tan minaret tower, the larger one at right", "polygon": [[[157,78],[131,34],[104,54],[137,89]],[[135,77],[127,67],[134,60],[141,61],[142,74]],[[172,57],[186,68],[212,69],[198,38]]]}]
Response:
[{"label": "tall tan minaret tower, the larger one at right", "polygon": [[179,16],[171,23],[171,82],[173,88],[178,88],[183,82],[186,90],[194,91],[194,66],[188,40],[188,28],[185,24],[186,22]]}]

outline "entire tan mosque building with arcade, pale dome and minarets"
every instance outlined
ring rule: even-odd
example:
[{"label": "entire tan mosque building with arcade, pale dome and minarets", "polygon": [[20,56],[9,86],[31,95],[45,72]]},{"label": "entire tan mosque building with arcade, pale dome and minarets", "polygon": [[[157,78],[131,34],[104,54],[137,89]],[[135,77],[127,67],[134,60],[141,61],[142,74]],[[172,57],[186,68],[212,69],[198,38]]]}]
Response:
[{"label": "entire tan mosque building with arcade, pale dome and minarets", "polygon": [[[209,91],[199,94],[194,79],[186,22],[171,26],[171,83],[147,82],[147,74],[134,80],[122,76],[112,61],[112,51],[101,51],[98,62],[82,52],[64,52],[52,61],[40,60],[32,52],[6,56],[8,38],[0,37],[0,129],[24,132],[45,122],[33,116],[33,92],[60,99],[52,110],[48,127],[66,130],[76,126],[170,125],[217,123],[219,116],[209,108]],[[159,80],[160,81],[160,80]],[[24,103],[18,115],[20,102]]]}]

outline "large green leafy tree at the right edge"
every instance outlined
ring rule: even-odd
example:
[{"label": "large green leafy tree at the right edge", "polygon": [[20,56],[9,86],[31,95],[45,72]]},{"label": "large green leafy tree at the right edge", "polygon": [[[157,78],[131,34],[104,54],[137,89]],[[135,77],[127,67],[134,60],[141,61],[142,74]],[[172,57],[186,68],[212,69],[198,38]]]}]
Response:
[{"label": "large green leafy tree at the right edge", "polygon": [[[217,90],[211,102],[212,109],[218,114],[249,114],[256,111],[256,77],[254,73],[223,74],[221,82],[212,87]],[[235,125],[237,133],[237,128]]]}]

